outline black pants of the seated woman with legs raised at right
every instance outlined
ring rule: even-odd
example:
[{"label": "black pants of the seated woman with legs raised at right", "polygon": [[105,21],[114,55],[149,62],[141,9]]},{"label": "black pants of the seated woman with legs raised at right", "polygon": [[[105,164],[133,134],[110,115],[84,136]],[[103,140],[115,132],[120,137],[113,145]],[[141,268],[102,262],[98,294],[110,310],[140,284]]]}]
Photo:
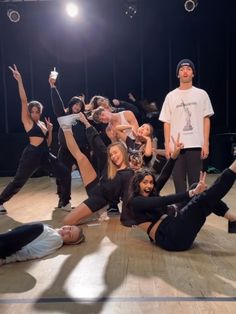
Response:
[{"label": "black pants of the seated woman with legs raised at right", "polygon": [[183,251],[191,247],[198,232],[211,213],[224,216],[228,210],[220,200],[230,190],[236,174],[226,169],[209,189],[195,196],[176,217],[168,216],[159,225],[155,243],[168,251]]}]

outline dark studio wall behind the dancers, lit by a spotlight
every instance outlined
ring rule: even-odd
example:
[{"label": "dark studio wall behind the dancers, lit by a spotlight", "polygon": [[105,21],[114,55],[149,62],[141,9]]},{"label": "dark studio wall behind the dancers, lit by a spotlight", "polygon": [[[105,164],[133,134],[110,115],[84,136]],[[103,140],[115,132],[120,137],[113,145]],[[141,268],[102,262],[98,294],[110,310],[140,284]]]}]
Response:
[{"label": "dark studio wall behind the dancers, lit by a spotlight", "polygon": [[127,99],[132,91],[161,106],[178,84],[176,64],[190,58],[197,69],[195,85],[208,92],[215,110],[210,162],[222,168],[231,158],[234,135],[217,134],[236,132],[234,1],[198,0],[192,13],[185,11],[184,0],[131,1],[137,6],[133,19],[124,13],[129,1],[77,1],[77,20],[66,17],[65,0],[16,2],[19,23],[9,21],[9,4],[0,3],[0,175],[14,174],[27,142],[17,84],[8,69],[14,63],[29,100],[44,104],[56,131],[48,85],[54,66],[65,102],[82,92],[89,100],[94,94]]}]

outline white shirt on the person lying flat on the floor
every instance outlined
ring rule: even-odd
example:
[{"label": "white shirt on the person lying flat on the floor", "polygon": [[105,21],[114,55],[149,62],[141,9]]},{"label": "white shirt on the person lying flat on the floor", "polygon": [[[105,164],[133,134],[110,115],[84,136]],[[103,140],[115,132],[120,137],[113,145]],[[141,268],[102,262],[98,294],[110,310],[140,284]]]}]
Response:
[{"label": "white shirt on the person lying flat on the floor", "polygon": [[41,258],[54,253],[62,245],[63,241],[59,233],[55,229],[44,225],[43,232],[36,239],[15,254],[6,257],[5,263]]}]

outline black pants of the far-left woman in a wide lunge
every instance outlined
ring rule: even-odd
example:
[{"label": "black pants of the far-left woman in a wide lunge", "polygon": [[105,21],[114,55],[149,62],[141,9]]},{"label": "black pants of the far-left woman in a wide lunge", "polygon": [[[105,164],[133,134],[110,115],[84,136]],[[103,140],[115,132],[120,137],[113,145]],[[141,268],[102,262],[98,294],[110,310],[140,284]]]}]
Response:
[{"label": "black pants of the far-left woman in a wide lunge", "polygon": [[46,143],[39,146],[29,144],[24,149],[13,181],[11,181],[0,195],[0,204],[7,202],[24,186],[26,181],[39,168],[44,168],[52,173],[62,182],[61,199],[63,205],[70,200],[70,172],[58,161],[58,159],[49,153]]}]

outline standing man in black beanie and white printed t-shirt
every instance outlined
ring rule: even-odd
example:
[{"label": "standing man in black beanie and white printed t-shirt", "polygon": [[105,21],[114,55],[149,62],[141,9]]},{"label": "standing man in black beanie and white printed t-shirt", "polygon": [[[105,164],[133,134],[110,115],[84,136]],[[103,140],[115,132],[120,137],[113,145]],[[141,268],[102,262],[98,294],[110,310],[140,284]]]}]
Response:
[{"label": "standing man in black beanie and white printed t-shirt", "polygon": [[176,193],[198,182],[202,160],[209,155],[210,116],[214,111],[208,94],[193,86],[195,73],[191,60],[178,63],[176,75],[180,85],[167,94],[159,117],[164,122],[166,157],[170,158],[173,150],[172,136],[177,138],[180,134],[184,144],[173,170]]}]

